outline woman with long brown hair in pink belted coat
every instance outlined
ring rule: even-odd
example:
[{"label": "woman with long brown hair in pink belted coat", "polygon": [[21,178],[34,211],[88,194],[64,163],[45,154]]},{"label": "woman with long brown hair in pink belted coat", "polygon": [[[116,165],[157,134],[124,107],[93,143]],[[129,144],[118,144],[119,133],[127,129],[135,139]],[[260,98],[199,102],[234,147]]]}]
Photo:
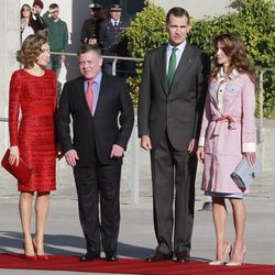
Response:
[{"label": "woman with long brown hair in pink belted coat", "polygon": [[[202,117],[198,160],[205,164],[202,190],[212,197],[217,238],[216,261],[210,265],[238,266],[244,263],[245,206],[243,191],[230,174],[242,157],[255,162],[255,76],[241,38],[222,34],[215,38],[215,68]],[[232,206],[235,239],[231,249],[227,237],[227,205]],[[232,250],[232,251],[231,251]]]}]

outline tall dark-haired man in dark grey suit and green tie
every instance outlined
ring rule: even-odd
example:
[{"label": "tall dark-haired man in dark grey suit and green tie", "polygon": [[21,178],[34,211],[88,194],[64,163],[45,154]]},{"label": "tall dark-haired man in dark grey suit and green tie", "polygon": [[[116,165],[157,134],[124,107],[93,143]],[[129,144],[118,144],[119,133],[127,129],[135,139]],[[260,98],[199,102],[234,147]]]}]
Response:
[{"label": "tall dark-haired man in dark grey suit and green tie", "polygon": [[177,262],[190,258],[196,140],[207,91],[209,59],[186,41],[189,29],[188,12],[182,8],[170,9],[166,15],[168,44],[150,51],[144,59],[139,136],[141,146],[151,151],[154,227],[158,243],[148,262],[169,260],[173,251]]}]

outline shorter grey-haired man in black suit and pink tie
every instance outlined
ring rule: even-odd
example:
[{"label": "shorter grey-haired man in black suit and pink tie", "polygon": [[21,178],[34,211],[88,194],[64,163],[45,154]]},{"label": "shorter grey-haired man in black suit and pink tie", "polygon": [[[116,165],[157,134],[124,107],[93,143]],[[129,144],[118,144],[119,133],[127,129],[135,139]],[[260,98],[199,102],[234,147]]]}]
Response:
[{"label": "shorter grey-haired man in black suit and pink tie", "polygon": [[106,260],[117,261],[121,164],[133,128],[133,106],[123,79],[101,73],[98,46],[81,45],[78,59],[82,76],[64,85],[57,118],[62,150],[74,167],[87,242],[80,261],[100,257],[100,240]]}]

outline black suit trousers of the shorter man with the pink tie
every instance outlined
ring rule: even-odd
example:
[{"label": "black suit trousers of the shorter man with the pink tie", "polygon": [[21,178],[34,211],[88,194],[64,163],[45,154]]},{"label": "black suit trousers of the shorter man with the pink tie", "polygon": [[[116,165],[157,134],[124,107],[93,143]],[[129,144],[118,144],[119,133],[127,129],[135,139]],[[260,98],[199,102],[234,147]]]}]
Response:
[{"label": "black suit trousers of the shorter man with the pink tie", "polygon": [[121,165],[74,168],[79,219],[87,241],[87,252],[100,252],[101,237],[106,254],[117,253],[120,224],[120,175]]}]

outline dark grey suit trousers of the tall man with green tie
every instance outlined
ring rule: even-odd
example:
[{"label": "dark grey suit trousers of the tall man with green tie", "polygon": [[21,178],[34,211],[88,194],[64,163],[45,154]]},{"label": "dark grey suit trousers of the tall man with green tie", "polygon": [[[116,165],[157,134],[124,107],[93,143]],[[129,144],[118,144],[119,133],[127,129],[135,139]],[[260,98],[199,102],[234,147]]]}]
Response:
[{"label": "dark grey suit trousers of the tall man with green tie", "polygon": [[156,250],[165,254],[173,252],[174,226],[174,251],[189,251],[194,223],[196,155],[176,151],[165,133],[160,145],[151,151],[151,168],[154,227],[158,243]]}]

